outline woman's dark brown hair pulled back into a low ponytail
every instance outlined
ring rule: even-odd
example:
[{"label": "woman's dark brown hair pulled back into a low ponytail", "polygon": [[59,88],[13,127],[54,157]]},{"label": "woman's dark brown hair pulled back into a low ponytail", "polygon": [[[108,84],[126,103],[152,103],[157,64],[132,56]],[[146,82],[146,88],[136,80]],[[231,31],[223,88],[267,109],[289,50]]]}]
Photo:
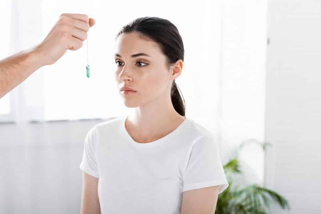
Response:
[{"label": "woman's dark brown hair pulled back into a low ponytail", "polygon": [[[130,32],[138,33],[142,39],[156,42],[166,56],[166,67],[168,69],[170,65],[174,65],[179,59],[184,62],[183,40],[177,27],[172,22],[159,17],[140,17],[123,26],[117,33],[115,41],[120,34]],[[170,90],[172,104],[178,114],[185,116],[185,100],[182,95],[183,103],[178,89],[178,85],[173,80]]]}]

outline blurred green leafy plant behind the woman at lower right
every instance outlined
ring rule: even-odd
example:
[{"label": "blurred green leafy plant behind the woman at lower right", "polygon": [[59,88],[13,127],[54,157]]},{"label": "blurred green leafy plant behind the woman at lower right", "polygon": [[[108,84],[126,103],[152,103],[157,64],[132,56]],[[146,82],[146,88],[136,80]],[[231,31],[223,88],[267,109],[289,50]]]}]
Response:
[{"label": "blurred green leafy plant behind the woman at lower right", "polygon": [[218,195],[215,214],[268,214],[270,213],[270,198],[280,205],[282,209],[290,210],[290,205],[284,197],[260,185],[251,184],[243,187],[232,187],[233,175],[242,173],[238,160],[239,151],[248,143],[258,144],[262,146],[264,151],[266,146],[270,145],[270,143],[250,140],[243,141],[235,150],[234,157],[223,166],[229,186]]}]

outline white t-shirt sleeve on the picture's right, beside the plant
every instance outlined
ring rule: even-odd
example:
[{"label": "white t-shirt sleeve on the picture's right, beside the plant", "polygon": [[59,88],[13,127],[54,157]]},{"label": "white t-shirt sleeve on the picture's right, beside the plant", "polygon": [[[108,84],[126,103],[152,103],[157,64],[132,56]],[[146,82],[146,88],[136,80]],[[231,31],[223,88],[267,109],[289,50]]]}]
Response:
[{"label": "white t-shirt sleeve on the picture's right, beside the plant", "polygon": [[212,133],[200,137],[192,147],[183,173],[183,192],[209,186],[219,187],[219,194],[227,187],[219,145]]}]

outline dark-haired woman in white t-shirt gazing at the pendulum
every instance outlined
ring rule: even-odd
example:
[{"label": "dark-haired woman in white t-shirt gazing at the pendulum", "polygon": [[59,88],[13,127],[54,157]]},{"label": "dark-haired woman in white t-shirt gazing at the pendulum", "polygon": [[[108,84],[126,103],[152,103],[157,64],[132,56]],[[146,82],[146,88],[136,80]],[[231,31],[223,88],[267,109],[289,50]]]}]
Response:
[{"label": "dark-haired woman in white t-shirt gazing at the pendulum", "polygon": [[135,111],[87,133],[82,213],[214,213],[229,184],[213,134],[185,116],[175,83],[183,61],[168,20],[138,18],[117,34],[115,78]]}]

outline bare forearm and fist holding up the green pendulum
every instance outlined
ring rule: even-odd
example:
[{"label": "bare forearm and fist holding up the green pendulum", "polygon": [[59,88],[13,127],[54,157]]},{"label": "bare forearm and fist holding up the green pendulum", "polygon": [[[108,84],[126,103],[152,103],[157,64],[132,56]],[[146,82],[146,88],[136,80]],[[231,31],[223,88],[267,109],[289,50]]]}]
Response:
[{"label": "bare forearm and fist holding up the green pendulum", "polygon": [[0,98],[42,66],[55,63],[67,49],[78,50],[95,20],[85,14],[63,13],[47,37],[27,50],[0,60]]}]

